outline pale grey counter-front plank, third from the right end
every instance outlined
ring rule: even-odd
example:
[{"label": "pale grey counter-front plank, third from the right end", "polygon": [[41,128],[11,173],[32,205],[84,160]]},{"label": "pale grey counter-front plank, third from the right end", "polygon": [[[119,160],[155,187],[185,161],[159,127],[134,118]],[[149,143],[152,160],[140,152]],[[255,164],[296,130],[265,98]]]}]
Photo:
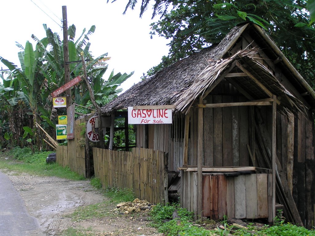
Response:
[{"label": "pale grey counter-front plank, third from the right end", "polygon": [[246,218],[246,179],[239,175],[234,179],[235,218]]}]

